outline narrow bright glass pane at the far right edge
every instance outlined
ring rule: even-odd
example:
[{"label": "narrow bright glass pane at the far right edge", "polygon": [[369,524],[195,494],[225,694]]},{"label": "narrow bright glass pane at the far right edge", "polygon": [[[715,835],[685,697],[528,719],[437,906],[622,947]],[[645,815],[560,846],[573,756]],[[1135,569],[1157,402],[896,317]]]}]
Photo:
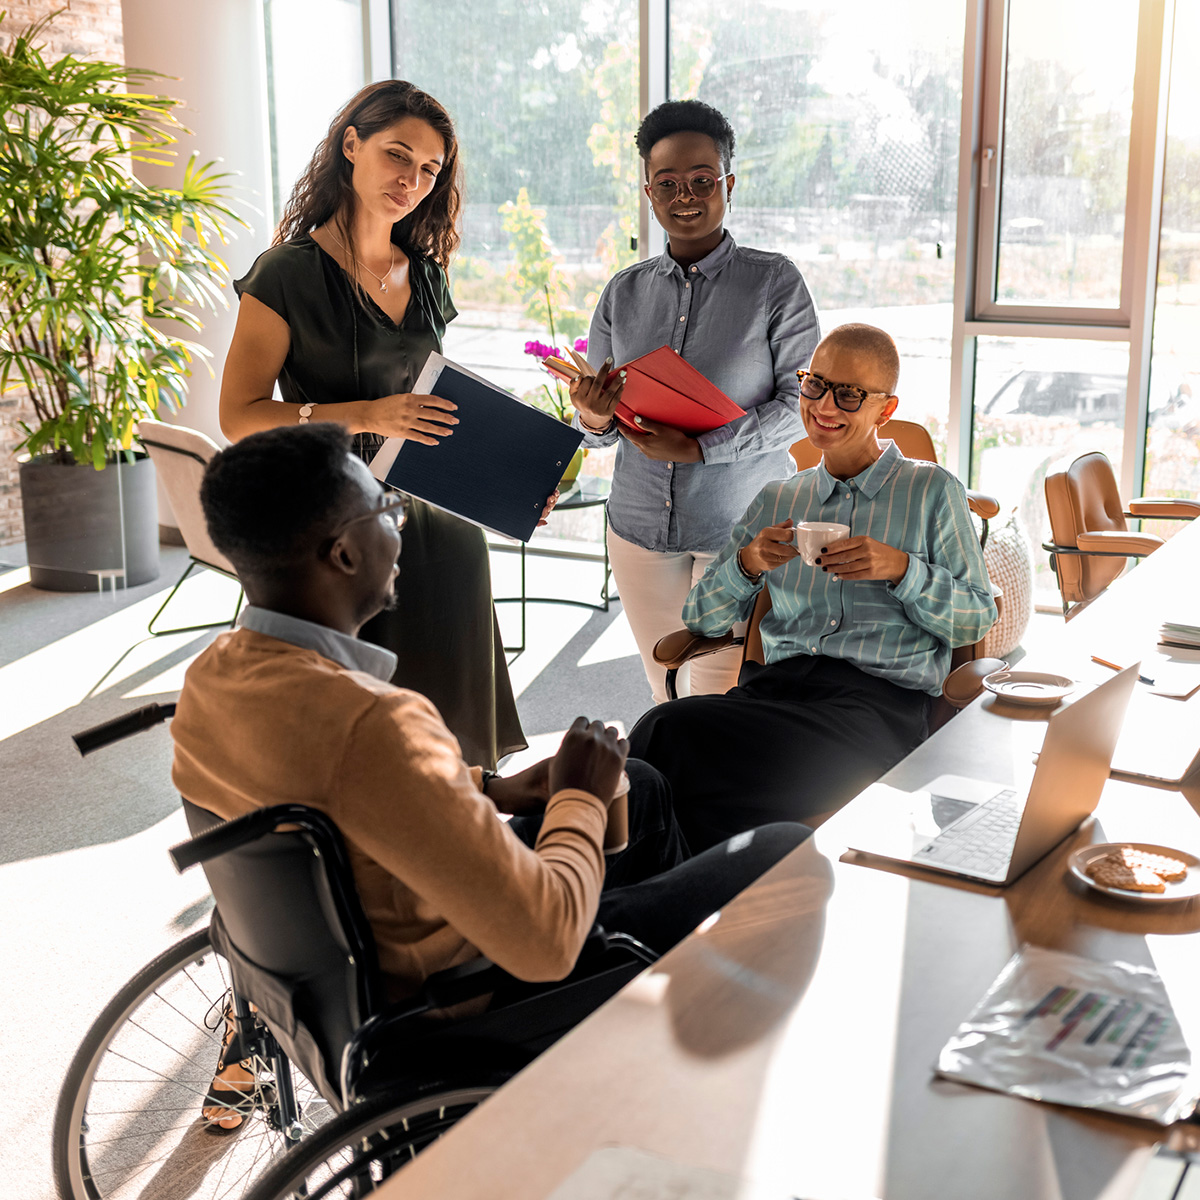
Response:
[{"label": "narrow bright glass pane at the far right edge", "polygon": [[[1200,496],[1200,5],[1175,10],[1175,48],[1154,353],[1146,440],[1147,496]],[[1147,522],[1160,538],[1178,521]]]}]

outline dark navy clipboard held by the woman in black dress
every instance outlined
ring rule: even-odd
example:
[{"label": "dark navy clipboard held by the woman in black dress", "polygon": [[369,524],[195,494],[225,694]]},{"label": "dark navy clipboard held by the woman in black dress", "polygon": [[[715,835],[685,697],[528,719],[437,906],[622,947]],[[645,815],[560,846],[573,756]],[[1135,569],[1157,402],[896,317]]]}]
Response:
[{"label": "dark navy clipboard held by the woman in black dress", "polygon": [[436,446],[389,438],[371,461],[376,479],[528,541],[583,434],[437,353],[413,391],[452,400],[458,424]]}]

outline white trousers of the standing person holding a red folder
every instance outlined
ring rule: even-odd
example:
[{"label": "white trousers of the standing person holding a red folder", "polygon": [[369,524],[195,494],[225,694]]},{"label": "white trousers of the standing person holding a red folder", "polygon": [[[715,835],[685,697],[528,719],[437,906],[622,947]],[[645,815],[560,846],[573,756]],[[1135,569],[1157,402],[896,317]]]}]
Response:
[{"label": "white trousers of the standing person holding a red folder", "polygon": [[[683,605],[692,586],[704,574],[715,554],[662,553],[643,550],[608,529],[608,560],[620,593],[620,605],[634,631],[642,655],[646,678],[654,692],[654,703],[667,698],[667,672],[654,661],[654,646],[660,637],[683,629]],[[745,634],[745,623],[733,626]],[[733,646],[720,654],[706,654],[679,672],[680,696],[707,696],[730,690],[738,682],[742,647]],[[690,674],[690,678],[689,678]]]}]

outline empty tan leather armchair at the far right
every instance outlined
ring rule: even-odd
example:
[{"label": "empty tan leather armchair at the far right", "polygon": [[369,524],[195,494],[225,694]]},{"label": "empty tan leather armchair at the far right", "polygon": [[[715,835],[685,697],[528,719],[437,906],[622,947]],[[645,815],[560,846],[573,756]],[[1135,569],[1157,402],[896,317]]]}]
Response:
[{"label": "empty tan leather armchair at the far right", "polygon": [[1046,473],[1050,566],[1058,581],[1062,612],[1069,620],[1096,599],[1126,568],[1163,545],[1152,533],[1133,533],[1126,518],[1190,521],[1200,502],[1141,497],[1121,504],[1112,463],[1098,450]]}]

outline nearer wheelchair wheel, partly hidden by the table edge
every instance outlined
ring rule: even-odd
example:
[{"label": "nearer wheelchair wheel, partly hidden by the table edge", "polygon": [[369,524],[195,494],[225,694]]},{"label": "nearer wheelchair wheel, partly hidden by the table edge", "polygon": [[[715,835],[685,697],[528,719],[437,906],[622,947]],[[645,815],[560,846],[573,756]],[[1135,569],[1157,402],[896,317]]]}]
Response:
[{"label": "nearer wheelchair wheel, partly hidden by the table edge", "polygon": [[[516,1074],[388,1091],[355,1104],[277,1159],[244,1200],[358,1200],[390,1178]],[[472,1078],[472,1076],[464,1076]]]}]

